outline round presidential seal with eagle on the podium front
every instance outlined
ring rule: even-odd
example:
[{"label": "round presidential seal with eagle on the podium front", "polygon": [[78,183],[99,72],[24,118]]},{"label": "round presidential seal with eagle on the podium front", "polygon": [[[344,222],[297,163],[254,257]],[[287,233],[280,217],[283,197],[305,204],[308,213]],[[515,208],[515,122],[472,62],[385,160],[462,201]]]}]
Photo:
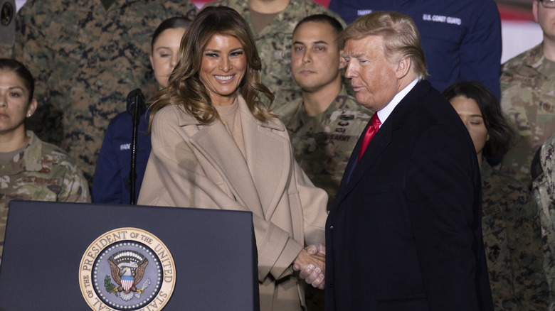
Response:
[{"label": "round presidential seal with eagle on the podium front", "polygon": [[153,234],[115,229],[85,251],[79,285],[93,310],[162,310],[174,291],[174,259]]}]

